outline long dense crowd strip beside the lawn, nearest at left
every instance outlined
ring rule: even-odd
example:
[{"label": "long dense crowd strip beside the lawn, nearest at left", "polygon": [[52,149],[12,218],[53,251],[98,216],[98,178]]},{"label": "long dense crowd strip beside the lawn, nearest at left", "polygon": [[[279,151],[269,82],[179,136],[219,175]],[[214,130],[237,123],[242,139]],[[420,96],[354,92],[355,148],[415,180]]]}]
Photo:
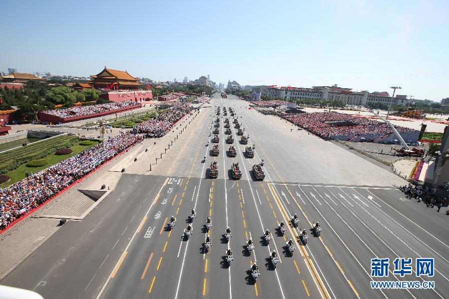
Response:
[{"label": "long dense crowd strip beside the lawn, nearest at left", "polygon": [[120,134],[8,187],[1,188],[0,230],[141,140],[140,135]]}]

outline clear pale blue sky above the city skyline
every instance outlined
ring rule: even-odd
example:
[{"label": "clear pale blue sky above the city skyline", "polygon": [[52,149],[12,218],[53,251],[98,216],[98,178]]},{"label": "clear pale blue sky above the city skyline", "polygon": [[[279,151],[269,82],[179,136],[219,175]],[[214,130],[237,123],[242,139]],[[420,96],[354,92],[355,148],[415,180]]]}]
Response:
[{"label": "clear pale blue sky above the city skyline", "polygon": [[[313,2],[313,3],[311,3]],[[449,97],[449,1],[5,1],[0,70]]]}]

